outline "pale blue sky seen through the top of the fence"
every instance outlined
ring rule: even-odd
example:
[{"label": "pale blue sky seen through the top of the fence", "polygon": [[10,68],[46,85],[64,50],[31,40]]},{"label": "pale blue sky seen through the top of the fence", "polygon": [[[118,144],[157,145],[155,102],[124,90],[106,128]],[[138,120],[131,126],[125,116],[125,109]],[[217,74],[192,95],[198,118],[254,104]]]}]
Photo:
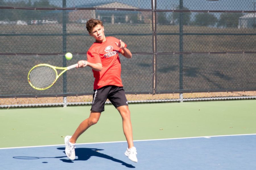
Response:
[{"label": "pale blue sky seen through the top of the fence", "polygon": [[[4,0],[17,2],[17,1],[28,1],[28,0]],[[31,0],[34,1],[39,0]],[[63,0],[49,0],[51,4],[62,7]],[[175,9],[179,5],[180,0],[157,0],[157,9]],[[66,0],[67,7],[76,7],[79,5],[84,5],[88,3],[111,3],[120,2],[125,3],[134,7],[139,7],[143,9],[151,9],[150,0]],[[255,10],[256,0],[218,0],[218,1],[208,1],[208,0],[183,0],[183,6],[189,8],[190,10]]]}]

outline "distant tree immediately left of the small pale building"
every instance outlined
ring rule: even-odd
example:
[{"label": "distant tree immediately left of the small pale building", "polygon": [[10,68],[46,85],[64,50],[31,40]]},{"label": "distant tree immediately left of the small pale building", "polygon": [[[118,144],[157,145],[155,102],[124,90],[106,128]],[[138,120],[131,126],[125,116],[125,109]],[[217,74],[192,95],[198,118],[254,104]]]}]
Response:
[{"label": "distant tree immediately left of the small pale building", "polygon": [[218,27],[238,27],[239,18],[241,13],[222,13],[218,22]]}]

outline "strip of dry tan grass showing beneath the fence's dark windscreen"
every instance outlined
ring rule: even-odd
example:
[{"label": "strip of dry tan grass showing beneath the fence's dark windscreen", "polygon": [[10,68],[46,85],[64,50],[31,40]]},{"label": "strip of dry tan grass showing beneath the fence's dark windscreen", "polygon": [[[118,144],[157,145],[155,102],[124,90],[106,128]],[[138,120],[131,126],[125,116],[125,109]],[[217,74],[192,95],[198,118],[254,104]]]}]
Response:
[{"label": "strip of dry tan grass showing beneath the fence's dark windscreen", "polygon": [[[209,92],[209,93],[184,93],[183,99],[200,99],[200,98],[216,98],[216,97],[245,97],[256,96],[256,91],[248,92]],[[179,94],[127,94],[128,101],[134,102],[146,102],[150,100],[158,100],[164,102],[164,100],[179,99]],[[85,96],[69,96],[67,97],[68,103],[90,104],[92,101],[91,95]],[[40,97],[40,98],[1,98],[0,105],[34,105],[45,103],[63,103],[63,97]],[[8,107],[8,106],[7,106]]]}]

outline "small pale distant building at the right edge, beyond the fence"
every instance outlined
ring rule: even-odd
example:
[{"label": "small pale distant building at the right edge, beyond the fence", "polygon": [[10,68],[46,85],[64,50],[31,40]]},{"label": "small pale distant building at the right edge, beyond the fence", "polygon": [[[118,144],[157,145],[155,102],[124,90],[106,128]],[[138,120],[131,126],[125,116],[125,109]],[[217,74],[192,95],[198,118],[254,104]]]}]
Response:
[{"label": "small pale distant building at the right edge, beyond the fence", "polygon": [[256,14],[251,13],[239,18],[238,28],[253,28],[255,27]]}]

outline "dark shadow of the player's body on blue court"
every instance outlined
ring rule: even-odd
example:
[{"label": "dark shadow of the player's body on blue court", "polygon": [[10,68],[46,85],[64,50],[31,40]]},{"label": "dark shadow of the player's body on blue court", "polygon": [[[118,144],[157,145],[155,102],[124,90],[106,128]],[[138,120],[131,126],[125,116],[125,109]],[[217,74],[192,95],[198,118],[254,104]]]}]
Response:
[{"label": "dark shadow of the player's body on blue court", "polygon": [[[64,154],[65,154],[65,148],[57,148],[59,150],[64,150]],[[104,149],[97,149],[97,148],[76,148],[75,152],[76,152],[76,156],[77,159],[73,160],[73,161],[87,161],[88,159],[90,159],[92,156],[97,156],[100,158],[105,158],[108,160],[112,160],[114,162],[118,162],[121,163],[122,165],[128,167],[128,168],[135,168],[133,165],[125,163],[121,160],[115,159],[111,156],[108,156],[106,154],[102,154],[99,151],[104,150]],[[74,163],[72,160],[69,159],[60,159],[63,162],[67,162],[67,163]]]}]

